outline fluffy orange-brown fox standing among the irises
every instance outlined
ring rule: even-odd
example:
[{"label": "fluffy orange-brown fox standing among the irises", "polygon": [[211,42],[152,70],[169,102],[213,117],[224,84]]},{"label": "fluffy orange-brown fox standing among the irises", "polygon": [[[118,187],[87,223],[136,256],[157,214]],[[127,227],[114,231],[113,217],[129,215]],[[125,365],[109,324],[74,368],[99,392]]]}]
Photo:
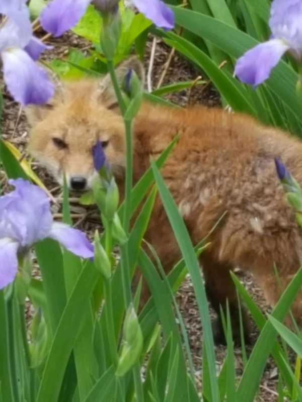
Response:
[{"label": "fluffy orange-brown fox standing among the irises", "polygon": [[[143,79],[142,65],[132,57],[117,67],[119,82],[130,68]],[[97,174],[92,148],[100,141],[123,198],[125,128],[109,75],[56,86],[48,105],[26,111],[31,127],[29,152],[58,183],[62,184],[65,174],[71,190],[84,191]],[[252,273],[268,304],[274,306],[302,262],[302,232],[285,201],[274,164],[274,158],[280,158],[302,184],[302,143],[242,113],[201,105],[174,108],[146,100],[132,132],[134,184],[150,166],[150,159],[179,136],[161,174],[192,243],[208,236],[209,246],[199,260],[206,295],[217,314],[215,343],[225,343],[220,307],[225,312],[227,304],[233,337],[238,340],[240,312],[230,271],[240,267]],[[181,253],[159,196],[144,238],[169,272]],[[292,312],[302,325],[301,294]],[[242,314],[248,342],[249,317],[245,311]]]}]

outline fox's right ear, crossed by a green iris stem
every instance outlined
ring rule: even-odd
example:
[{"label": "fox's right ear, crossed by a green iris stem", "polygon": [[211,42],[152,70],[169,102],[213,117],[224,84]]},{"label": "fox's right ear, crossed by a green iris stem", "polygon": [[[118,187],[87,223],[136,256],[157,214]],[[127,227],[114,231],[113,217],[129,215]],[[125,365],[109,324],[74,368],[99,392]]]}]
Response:
[{"label": "fox's right ear, crossed by a green iris stem", "polygon": [[[144,68],[142,63],[138,60],[136,56],[129,57],[115,69],[119,85],[121,86],[123,84],[127,72],[130,69],[135,71],[136,75],[143,85]],[[118,106],[115,91],[109,74],[105,75],[105,77],[100,81],[98,95],[100,95],[102,101],[106,104],[107,108],[113,109],[115,106]]]}]

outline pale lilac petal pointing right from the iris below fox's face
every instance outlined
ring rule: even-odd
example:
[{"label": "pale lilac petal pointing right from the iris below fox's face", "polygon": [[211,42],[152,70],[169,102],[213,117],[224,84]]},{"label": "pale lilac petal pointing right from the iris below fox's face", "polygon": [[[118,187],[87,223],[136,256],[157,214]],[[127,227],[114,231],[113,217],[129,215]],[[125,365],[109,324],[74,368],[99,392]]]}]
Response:
[{"label": "pale lilac petal pointing right from the iris below fox's face", "polygon": [[61,243],[67,250],[83,258],[94,256],[93,245],[89,242],[86,235],[78,229],[70,228],[63,223],[55,222],[48,234],[54,240]]}]

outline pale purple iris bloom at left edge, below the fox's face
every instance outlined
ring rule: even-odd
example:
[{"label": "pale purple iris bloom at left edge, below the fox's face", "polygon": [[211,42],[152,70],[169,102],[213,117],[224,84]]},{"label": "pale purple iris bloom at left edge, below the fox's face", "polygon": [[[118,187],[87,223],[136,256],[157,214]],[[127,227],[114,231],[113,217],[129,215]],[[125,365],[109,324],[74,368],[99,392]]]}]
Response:
[{"label": "pale purple iris bloom at left edge, below the fox's face", "polygon": [[40,187],[21,178],[9,182],[16,189],[0,197],[0,289],[17,274],[18,251],[46,237],[83,258],[93,257],[93,246],[84,233],[53,222],[49,199]]}]

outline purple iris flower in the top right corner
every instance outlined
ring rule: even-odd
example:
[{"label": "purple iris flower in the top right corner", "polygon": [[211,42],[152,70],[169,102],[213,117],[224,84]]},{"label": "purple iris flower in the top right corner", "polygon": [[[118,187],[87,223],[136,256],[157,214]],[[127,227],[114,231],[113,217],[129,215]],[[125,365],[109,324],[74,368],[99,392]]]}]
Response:
[{"label": "purple iris flower in the top right corner", "polygon": [[272,38],[248,50],[236,63],[234,75],[254,87],[265,81],[282,55],[289,50],[302,60],[302,2],[274,0],[269,27]]}]

